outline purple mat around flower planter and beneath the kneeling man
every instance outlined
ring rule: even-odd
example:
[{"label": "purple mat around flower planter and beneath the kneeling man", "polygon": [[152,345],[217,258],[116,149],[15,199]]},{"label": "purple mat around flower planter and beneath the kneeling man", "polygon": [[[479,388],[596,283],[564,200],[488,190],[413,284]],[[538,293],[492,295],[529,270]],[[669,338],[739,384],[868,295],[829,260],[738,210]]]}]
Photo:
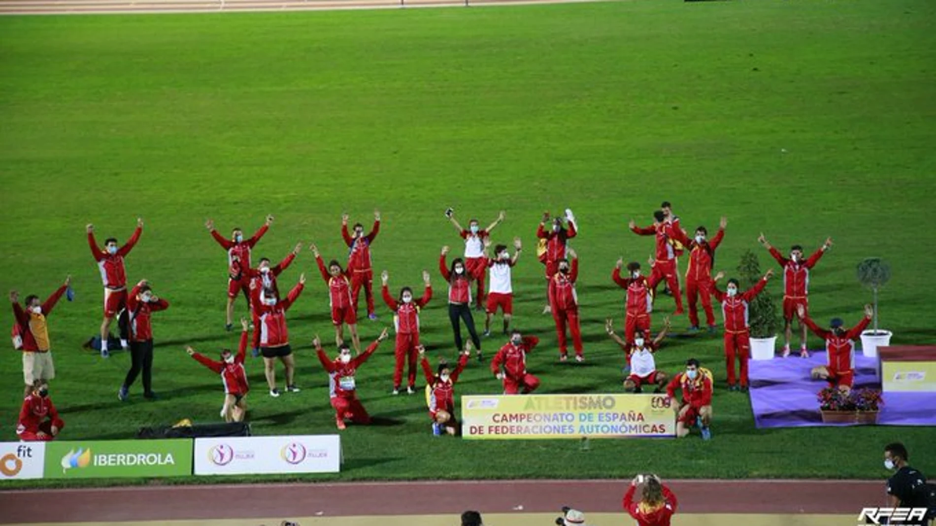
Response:
[{"label": "purple mat around flower planter and beneath the kneeling man", "polygon": [[[826,364],[826,351],[812,351],[810,358],[774,358],[748,363],[751,405],[758,428],[804,427],[827,424],[819,414],[816,394],[828,385],[812,380],[810,370]],[[855,356],[855,387],[881,389],[877,359]],[[936,425],[936,394],[931,392],[887,392],[878,425]]]}]

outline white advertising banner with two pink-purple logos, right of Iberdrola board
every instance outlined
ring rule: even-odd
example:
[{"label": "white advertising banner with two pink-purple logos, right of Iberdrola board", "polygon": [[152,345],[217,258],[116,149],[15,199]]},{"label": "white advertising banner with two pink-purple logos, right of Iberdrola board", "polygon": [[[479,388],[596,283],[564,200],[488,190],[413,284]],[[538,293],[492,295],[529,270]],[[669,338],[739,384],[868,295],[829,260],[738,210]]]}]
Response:
[{"label": "white advertising banner with two pink-purple logos, right of Iberdrola board", "polygon": [[341,462],[337,434],[195,439],[196,475],[338,473]]}]

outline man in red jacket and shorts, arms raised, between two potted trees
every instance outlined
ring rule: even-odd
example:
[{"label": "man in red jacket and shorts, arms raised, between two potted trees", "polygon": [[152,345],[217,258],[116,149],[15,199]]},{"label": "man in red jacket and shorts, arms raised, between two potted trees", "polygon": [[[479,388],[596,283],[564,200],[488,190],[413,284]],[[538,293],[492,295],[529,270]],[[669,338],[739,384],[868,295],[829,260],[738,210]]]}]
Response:
[{"label": "man in red jacket and shorts, arms raised, between two potted trees", "polygon": [[[790,355],[790,340],[793,336],[793,320],[799,320],[797,309],[803,306],[809,309],[809,287],[810,287],[810,269],[819,262],[819,258],[826,253],[826,250],[832,247],[832,238],[826,238],[822,247],[812,253],[810,259],[803,261],[803,248],[794,245],[790,249],[790,258],[784,258],[780,250],[773,248],[763,234],[757,238],[757,241],[770,251],[773,259],[780,263],[783,268],[783,358]],[[799,324],[801,339],[799,345],[799,356],[809,358],[810,352],[806,348],[806,325]]]}]

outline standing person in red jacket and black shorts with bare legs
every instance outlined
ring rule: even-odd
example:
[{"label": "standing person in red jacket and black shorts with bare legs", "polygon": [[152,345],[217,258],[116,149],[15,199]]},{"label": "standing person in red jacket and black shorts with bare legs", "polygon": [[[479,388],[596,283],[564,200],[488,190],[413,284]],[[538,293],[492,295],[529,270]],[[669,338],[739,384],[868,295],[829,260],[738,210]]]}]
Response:
[{"label": "standing person in red jacket and black shorts with bare legs", "polygon": [[305,287],[305,274],[300,275],[299,283],[289,291],[284,300],[277,299],[275,291],[265,289],[257,301],[257,315],[260,333],[260,354],[263,355],[264,373],[270,386],[270,396],[276,398],[280,391],[276,389],[276,359],[285,365],[286,391],[299,392],[293,381],[296,361],[289,346],[289,331],[286,329],[286,311],[293,305]]}]

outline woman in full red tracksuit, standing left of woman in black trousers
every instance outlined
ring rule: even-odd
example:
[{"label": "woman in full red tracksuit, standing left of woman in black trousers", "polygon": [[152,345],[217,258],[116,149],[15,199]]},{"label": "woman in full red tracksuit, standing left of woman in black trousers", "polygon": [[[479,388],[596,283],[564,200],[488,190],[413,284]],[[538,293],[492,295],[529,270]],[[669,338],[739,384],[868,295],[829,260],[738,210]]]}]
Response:
[{"label": "woman in full red tracksuit, standing left of woman in black trousers", "polygon": [[409,287],[403,287],[400,291],[400,300],[393,299],[388,289],[389,275],[385,270],[380,274],[383,287],[381,292],[384,296],[384,303],[394,312],[393,326],[397,332],[396,344],[393,353],[396,362],[393,367],[393,394],[400,393],[402,385],[403,363],[409,362],[407,369],[406,392],[413,394],[416,392],[416,363],[419,353],[419,310],[429,303],[432,299],[432,286],[429,280],[429,272],[422,271],[422,281],[426,285],[426,291],[421,298],[413,297],[413,290]]}]

